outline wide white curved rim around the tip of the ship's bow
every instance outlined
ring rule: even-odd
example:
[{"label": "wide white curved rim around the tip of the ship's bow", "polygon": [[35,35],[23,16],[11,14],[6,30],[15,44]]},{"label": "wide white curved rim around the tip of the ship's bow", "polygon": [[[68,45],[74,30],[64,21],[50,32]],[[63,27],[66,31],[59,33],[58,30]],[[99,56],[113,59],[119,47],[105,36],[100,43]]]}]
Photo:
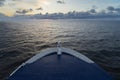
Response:
[{"label": "wide white curved rim around the tip of the ship's bow", "polygon": [[[46,49],[46,50],[43,50],[41,51],[40,53],[38,53],[37,55],[35,55],[34,57],[32,57],[31,59],[29,59],[28,61],[26,61],[27,64],[30,64],[30,63],[33,63],[35,62],[36,60],[46,56],[46,55],[49,55],[51,53],[54,53],[54,52],[57,52],[58,49],[57,48],[49,48],[49,49]],[[90,60],[89,58],[87,58],[86,56],[82,55],[81,53],[75,51],[75,50],[72,50],[72,49],[68,49],[68,48],[61,48],[61,52],[65,52],[67,54],[70,54],[74,57],[77,57],[87,63],[94,63],[92,60]],[[61,54],[62,55],[62,54]]]}]

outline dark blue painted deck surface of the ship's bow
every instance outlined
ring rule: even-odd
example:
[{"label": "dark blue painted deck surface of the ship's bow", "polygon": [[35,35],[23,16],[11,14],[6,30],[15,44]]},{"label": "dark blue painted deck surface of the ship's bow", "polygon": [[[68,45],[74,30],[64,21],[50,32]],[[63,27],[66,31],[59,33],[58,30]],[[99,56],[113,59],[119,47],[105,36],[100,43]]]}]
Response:
[{"label": "dark blue painted deck surface of the ship's bow", "polygon": [[8,80],[112,80],[111,77],[95,63],[62,53],[44,56],[37,61],[26,64]]}]

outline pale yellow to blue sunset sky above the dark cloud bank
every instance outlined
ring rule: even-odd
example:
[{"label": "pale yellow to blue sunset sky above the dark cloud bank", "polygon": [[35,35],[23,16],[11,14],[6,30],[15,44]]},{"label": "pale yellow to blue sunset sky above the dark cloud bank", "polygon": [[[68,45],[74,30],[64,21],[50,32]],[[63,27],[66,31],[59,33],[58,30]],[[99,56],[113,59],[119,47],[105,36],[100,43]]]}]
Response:
[{"label": "pale yellow to blue sunset sky above the dark cloud bank", "polygon": [[120,0],[0,0],[0,13],[6,16],[69,11],[101,11],[108,6],[119,7]]}]

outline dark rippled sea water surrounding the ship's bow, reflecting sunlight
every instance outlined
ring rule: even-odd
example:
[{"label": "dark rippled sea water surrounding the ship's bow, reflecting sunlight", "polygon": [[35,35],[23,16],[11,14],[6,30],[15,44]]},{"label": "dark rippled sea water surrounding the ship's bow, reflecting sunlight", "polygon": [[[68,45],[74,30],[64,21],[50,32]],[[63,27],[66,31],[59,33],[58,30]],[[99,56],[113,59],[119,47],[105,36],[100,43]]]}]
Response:
[{"label": "dark rippled sea water surrounding the ship's bow, reflecting sunlight", "polygon": [[23,20],[0,22],[0,80],[43,49],[77,50],[120,80],[120,20]]}]

